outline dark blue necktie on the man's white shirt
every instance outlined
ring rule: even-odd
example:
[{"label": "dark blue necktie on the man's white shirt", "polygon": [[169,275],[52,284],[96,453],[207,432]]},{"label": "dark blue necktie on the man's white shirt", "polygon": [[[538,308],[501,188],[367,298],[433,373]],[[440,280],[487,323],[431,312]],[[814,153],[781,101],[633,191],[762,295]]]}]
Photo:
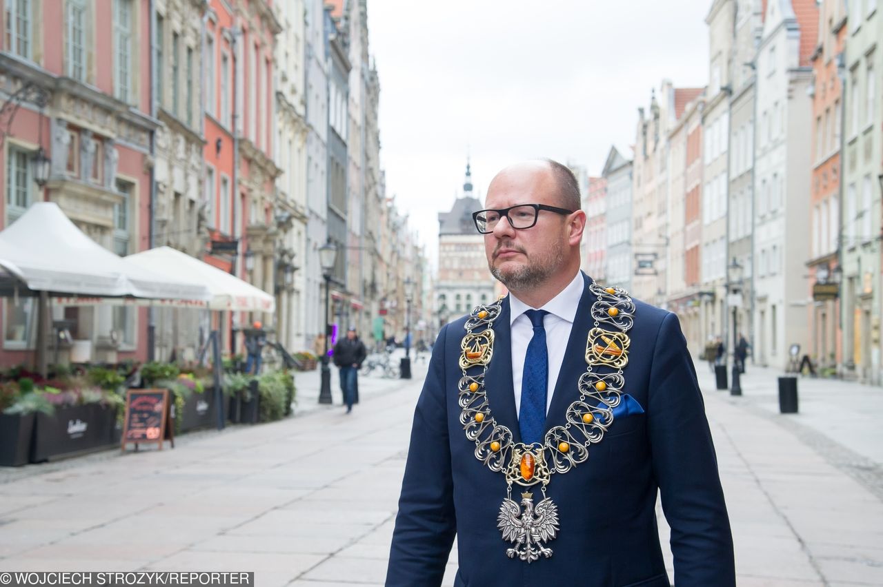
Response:
[{"label": "dark blue necktie on the man's white shirt", "polygon": [[546,388],[549,378],[549,358],[546,351],[546,329],[543,316],[546,310],[527,310],[525,315],[533,324],[533,338],[525,353],[525,371],[521,378],[521,408],[518,411],[518,429],[521,442],[542,442],[546,426]]}]

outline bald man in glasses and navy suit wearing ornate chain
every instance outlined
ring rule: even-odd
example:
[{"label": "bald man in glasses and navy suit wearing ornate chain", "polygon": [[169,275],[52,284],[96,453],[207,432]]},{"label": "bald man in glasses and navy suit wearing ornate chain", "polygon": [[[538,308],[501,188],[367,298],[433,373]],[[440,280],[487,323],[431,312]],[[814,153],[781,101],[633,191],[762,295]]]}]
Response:
[{"label": "bald man in glasses and navy suit wearing ornate chain", "polygon": [[503,169],[474,215],[502,301],[447,324],[418,400],[387,585],[734,585],[733,544],[677,317],[579,270],[577,181]]}]

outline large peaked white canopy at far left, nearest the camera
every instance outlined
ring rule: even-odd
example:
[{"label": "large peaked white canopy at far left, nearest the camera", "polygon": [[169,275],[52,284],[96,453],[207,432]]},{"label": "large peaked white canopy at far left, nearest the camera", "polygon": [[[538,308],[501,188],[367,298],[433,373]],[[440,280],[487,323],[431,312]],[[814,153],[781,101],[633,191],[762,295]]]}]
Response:
[{"label": "large peaked white canopy at far left, nearest the camera", "polygon": [[[0,232],[0,267],[34,292],[135,296],[207,304],[206,286],[127,264],[83,234],[54,202],[38,202]],[[4,287],[4,294],[10,294]],[[27,294],[26,291],[19,292]]]}]

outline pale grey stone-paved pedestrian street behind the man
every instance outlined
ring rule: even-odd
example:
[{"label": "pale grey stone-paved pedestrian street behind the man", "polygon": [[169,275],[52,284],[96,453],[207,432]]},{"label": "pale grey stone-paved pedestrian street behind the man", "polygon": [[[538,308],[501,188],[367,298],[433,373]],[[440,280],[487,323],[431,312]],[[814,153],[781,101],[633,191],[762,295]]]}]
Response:
[{"label": "pale grey stone-paved pedestrian street behind the man", "polygon": [[[399,352],[400,353],[400,352]],[[883,584],[883,397],[748,366],[743,397],[697,364],[736,541],[739,585]],[[360,377],[360,403],[316,405],[298,373],[288,420],[208,430],[174,450],[118,450],[0,471],[0,570],[255,571],[261,586],[376,585],[426,363]],[[668,542],[661,516],[660,534]],[[446,585],[453,584],[456,548]],[[669,572],[671,559],[668,556]]]}]

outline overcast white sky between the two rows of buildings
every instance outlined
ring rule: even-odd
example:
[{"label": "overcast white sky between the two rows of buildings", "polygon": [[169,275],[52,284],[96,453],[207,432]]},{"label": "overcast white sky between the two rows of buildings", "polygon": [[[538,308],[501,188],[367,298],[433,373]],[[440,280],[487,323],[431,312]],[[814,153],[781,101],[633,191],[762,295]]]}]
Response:
[{"label": "overcast white sky between the two rows of buildings", "polygon": [[502,167],[550,157],[600,174],[634,143],[662,78],[706,85],[712,0],[369,0],[387,194],[436,265],[438,212],[467,152],[483,202]]}]

